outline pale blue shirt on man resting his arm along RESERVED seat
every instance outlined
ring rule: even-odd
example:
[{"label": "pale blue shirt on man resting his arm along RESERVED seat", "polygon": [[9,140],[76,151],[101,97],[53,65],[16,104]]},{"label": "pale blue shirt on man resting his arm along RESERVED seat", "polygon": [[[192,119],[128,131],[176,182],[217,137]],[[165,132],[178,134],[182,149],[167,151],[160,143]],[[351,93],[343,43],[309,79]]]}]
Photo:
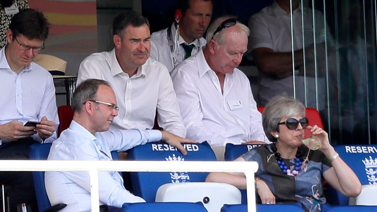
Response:
[{"label": "pale blue shirt on man resting his arm along RESERVED seat", "polygon": [[[112,160],[111,151],[161,140],[157,130],[116,130],[94,135],[72,121],[52,143],[48,160]],[[145,202],[123,186],[118,172],[98,172],[100,204],[122,207],[123,203]],[[61,212],[90,211],[90,180],[87,172],[46,172],[46,191],[52,205],[65,203]]]}]

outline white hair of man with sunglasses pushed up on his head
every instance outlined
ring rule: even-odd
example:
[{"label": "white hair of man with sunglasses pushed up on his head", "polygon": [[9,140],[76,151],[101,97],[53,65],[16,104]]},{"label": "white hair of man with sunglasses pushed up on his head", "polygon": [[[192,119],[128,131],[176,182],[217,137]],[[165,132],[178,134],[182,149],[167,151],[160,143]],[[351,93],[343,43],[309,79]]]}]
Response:
[{"label": "white hair of man with sunglasses pushed up on his head", "polygon": [[[224,22],[225,20],[227,20],[229,18],[237,18],[237,17],[236,16],[230,16],[230,15],[222,16],[222,17],[216,18],[215,21],[213,21],[213,23],[211,23],[211,25],[208,27],[207,35],[206,35],[206,38],[205,38],[207,40],[207,45],[210,42],[210,40],[212,39],[213,33],[215,33],[216,29],[219,28],[219,26],[222,24],[222,22]],[[241,22],[237,21],[236,25],[234,25],[234,26],[236,27],[236,33],[238,35],[242,35],[242,36],[245,36],[245,37],[248,37],[250,35],[250,29],[247,26],[245,26],[244,24],[242,24]],[[223,44],[224,41],[225,41],[225,33],[224,33],[225,29],[228,29],[228,28],[221,29],[221,31],[219,31],[218,33],[215,34],[215,36],[213,36],[213,40],[216,40],[219,45]]]}]

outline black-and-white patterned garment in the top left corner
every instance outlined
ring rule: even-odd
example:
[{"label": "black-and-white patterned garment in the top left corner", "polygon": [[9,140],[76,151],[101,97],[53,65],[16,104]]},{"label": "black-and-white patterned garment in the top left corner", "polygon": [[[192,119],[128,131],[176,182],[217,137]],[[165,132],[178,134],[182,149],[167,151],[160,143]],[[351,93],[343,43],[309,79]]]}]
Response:
[{"label": "black-and-white patterned garment in the top left corner", "polygon": [[[15,0],[14,3],[18,7],[18,11],[23,9],[29,8],[29,4],[27,0]],[[11,24],[11,20],[14,14],[7,15],[5,13],[5,9],[0,4],[0,48],[6,45],[6,30],[9,28],[9,24]]]}]

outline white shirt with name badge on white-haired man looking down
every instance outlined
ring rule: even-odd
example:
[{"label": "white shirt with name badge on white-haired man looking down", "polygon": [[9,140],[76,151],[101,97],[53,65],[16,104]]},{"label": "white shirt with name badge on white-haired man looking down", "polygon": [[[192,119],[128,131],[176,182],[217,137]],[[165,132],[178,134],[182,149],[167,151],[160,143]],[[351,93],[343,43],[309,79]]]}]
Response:
[{"label": "white shirt with name badge on white-haired man looking down", "polygon": [[[203,51],[182,61],[171,73],[187,138],[211,146],[259,140],[270,143],[250,82],[239,69],[225,75],[224,93]],[[261,139],[262,138],[262,139]]]}]

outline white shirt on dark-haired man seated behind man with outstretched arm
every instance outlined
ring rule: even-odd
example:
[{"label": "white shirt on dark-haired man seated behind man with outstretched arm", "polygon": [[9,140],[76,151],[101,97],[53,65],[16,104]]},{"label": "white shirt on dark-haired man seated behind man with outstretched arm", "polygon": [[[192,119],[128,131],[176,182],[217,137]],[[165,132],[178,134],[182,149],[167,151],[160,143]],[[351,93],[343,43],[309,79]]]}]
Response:
[{"label": "white shirt on dark-haired man seated behind man with outstretched arm", "polygon": [[116,60],[115,49],[94,53],[81,62],[77,85],[88,78],[106,80],[115,92],[119,111],[110,129],[152,129],[157,109],[159,126],[185,137],[172,79],[158,61],[149,58],[130,78]]}]

